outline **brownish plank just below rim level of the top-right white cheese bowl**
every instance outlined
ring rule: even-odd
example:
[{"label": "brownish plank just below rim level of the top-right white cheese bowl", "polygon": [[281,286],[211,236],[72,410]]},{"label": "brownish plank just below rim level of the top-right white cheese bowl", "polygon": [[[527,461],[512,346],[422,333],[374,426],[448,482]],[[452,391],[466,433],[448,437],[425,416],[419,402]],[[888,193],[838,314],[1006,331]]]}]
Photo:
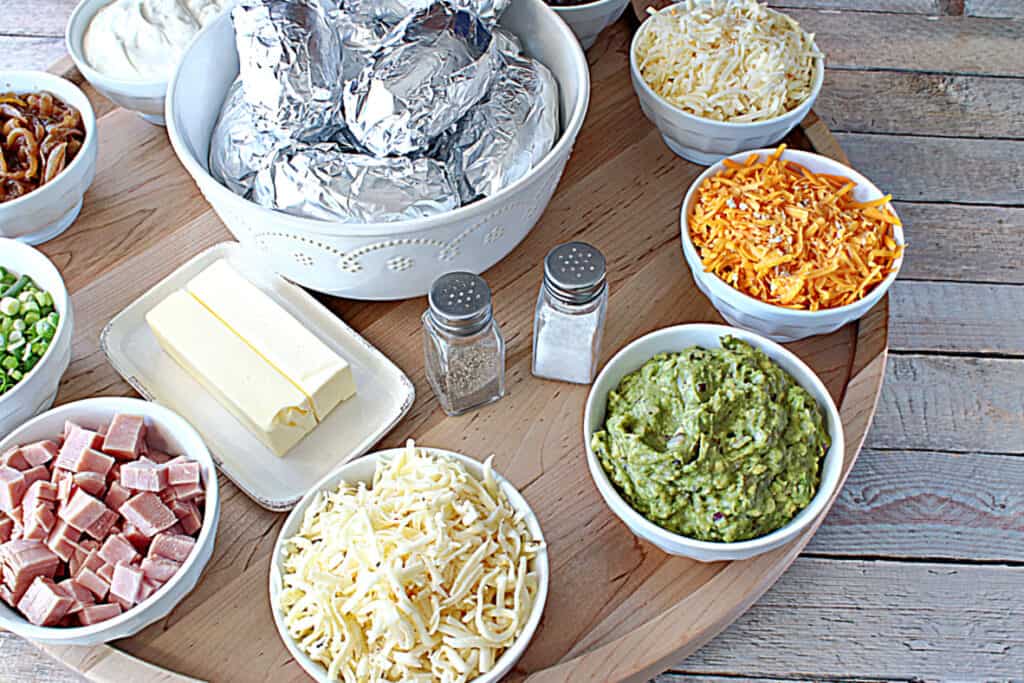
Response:
[{"label": "brownish plank just below rim level of the top-right white cheese bowl", "polygon": [[1021,99],[1019,79],[828,69],[814,108],[840,132],[1020,139]]}]

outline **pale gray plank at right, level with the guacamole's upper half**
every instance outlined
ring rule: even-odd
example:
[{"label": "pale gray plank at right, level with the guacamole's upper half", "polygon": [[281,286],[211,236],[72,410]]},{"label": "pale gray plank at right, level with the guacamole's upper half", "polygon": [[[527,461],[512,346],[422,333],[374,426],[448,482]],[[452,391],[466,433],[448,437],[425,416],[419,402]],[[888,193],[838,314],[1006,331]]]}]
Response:
[{"label": "pale gray plank at right, level with the guacamole's upper half", "polygon": [[889,356],[867,444],[1024,454],[1024,360]]}]

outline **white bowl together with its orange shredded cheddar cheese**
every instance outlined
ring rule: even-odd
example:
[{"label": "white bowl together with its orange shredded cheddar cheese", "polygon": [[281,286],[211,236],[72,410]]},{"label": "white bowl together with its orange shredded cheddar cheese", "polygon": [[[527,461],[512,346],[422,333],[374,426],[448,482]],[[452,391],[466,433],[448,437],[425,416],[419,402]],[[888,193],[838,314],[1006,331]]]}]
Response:
[{"label": "white bowl together with its orange shredded cheddar cheese", "polygon": [[784,145],[733,155],[690,185],[683,254],[732,325],[783,342],[827,334],[896,280],[904,241],[891,199],[820,155]]}]

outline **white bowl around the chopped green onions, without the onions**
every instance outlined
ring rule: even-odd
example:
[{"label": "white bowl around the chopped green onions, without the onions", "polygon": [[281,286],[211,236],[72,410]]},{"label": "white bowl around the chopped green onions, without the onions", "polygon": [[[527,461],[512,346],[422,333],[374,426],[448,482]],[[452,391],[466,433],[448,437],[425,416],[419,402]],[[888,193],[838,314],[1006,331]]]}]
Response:
[{"label": "white bowl around the chopped green onions, without the onions", "polygon": [[[2,205],[0,205],[2,206]],[[42,252],[16,240],[0,239],[0,265],[18,275],[29,275],[36,285],[50,293],[53,307],[60,314],[57,332],[46,353],[22,381],[7,393],[0,394],[0,437],[53,404],[60,378],[71,362],[71,340],[75,315],[71,297],[56,266]]]}]

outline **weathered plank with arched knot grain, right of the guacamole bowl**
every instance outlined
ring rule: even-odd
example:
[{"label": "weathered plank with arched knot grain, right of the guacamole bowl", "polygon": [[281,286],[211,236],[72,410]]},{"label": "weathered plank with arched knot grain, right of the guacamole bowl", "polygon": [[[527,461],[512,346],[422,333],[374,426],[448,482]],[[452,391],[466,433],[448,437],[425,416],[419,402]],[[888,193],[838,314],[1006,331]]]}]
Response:
[{"label": "weathered plank with arched knot grain, right of the guacamole bowl", "polygon": [[807,550],[1024,562],[1024,458],[865,449]]}]

